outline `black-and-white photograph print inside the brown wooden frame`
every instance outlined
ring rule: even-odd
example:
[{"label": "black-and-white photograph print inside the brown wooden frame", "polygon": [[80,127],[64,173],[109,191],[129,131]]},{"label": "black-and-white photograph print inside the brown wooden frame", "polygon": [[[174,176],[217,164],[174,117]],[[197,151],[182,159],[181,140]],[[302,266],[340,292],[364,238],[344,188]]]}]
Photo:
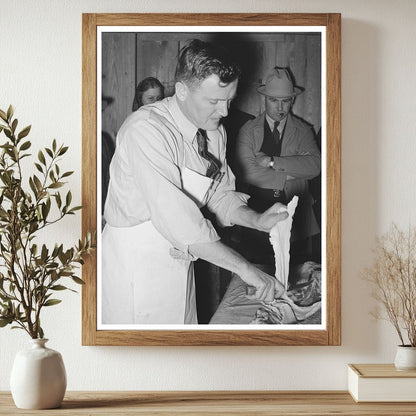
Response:
[{"label": "black-and-white photograph print inside the brown wooden frame", "polygon": [[121,29],[98,37],[101,326],[323,328],[323,29]]}]

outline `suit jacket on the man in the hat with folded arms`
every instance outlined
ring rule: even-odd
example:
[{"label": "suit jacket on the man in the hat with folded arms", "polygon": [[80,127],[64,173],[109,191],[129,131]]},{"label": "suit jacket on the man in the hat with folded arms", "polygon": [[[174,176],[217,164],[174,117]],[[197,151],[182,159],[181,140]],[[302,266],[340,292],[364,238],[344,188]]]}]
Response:
[{"label": "suit jacket on the man in the hat with folded arms", "polygon": [[240,129],[236,143],[237,179],[243,185],[284,189],[288,200],[298,195],[295,239],[316,234],[319,227],[308,188],[308,180],[318,176],[321,171],[321,153],[314,133],[304,121],[289,114],[283,132],[281,155],[274,157],[274,169],[262,167],[256,162],[256,155],[264,139],[264,120],[265,113],[262,113]]}]

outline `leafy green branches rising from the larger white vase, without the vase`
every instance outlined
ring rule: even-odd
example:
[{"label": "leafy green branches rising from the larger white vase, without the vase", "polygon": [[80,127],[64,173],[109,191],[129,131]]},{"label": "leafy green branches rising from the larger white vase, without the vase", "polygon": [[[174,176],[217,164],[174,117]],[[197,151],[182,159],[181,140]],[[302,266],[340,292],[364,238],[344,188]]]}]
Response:
[{"label": "leafy green branches rising from the larger white vase, without the vase", "polygon": [[21,161],[31,156],[31,142],[25,139],[31,126],[17,132],[13,115],[12,106],[0,110],[0,135],[6,136],[0,144],[0,327],[10,324],[31,338],[43,338],[42,309],[61,302],[54,293],[75,292],[62,284],[64,278],[84,283],[76,271],[94,249],[95,237],[87,233],[69,249],[38,243],[40,231],[74,215],[81,206],[71,206],[71,191],[61,192],[73,172],[61,172],[58,162],[68,147],[55,139],[51,147],[39,150],[36,173],[24,182]]}]

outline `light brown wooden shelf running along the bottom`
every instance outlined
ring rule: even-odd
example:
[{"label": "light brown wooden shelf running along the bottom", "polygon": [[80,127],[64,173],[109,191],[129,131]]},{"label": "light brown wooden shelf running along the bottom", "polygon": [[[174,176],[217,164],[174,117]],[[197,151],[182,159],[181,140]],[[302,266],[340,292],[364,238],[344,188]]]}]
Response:
[{"label": "light brown wooden shelf running along the bottom", "polygon": [[0,415],[415,415],[414,403],[355,403],[340,391],[67,392],[62,407],[47,411],[14,406],[0,392]]}]

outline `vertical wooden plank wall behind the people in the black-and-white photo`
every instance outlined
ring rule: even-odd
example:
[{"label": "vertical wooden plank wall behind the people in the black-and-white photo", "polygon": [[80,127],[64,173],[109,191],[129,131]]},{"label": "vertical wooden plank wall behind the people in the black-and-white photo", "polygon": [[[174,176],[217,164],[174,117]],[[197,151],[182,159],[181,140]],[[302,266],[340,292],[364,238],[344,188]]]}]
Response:
[{"label": "vertical wooden plank wall behind the people in the black-and-white photo", "polygon": [[[240,33],[238,40],[235,37],[234,42],[228,40],[226,45],[242,65],[242,79],[233,106],[253,116],[259,115],[264,111],[264,97],[257,88],[265,82],[271,68],[290,67],[295,85],[305,89],[304,94],[296,97],[293,113],[318,132],[321,128],[321,34],[247,32]],[[224,44],[227,35],[215,39],[215,35],[198,32],[103,33],[102,94],[113,100],[102,113],[104,131],[115,138],[132,112],[136,85],[144,78],[156,77],[165,87],[165,97],[174,94],[179,51],[189,39],[195,38]],[[227,134],[229,143],[230,133]]]}]

